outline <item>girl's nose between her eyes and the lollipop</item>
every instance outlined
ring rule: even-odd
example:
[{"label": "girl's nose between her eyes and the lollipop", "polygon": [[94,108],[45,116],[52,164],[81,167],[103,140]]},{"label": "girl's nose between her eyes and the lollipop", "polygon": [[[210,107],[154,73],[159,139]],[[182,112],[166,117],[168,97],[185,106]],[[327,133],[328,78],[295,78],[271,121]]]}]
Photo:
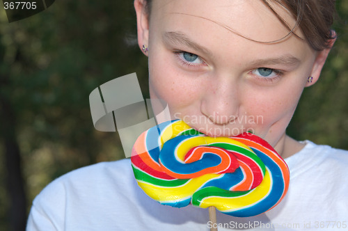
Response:
[{"label": "girl's nose between her eyes and the lollipop", "polygon": [[235,81],[215,79],[205,92],[200,111],[216,125],[227,125],[237,119],[239,94]]}]

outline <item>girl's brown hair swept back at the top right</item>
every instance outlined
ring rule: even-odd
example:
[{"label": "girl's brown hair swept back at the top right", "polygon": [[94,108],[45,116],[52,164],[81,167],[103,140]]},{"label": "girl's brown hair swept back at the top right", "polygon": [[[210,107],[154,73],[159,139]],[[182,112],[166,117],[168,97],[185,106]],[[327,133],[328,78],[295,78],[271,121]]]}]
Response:
[{"label": "girl's brown hair swept back at the top right", "polygon": [[[145,10],[151,14],[152,0],[144,0]],[[316,51],[330,47],[330,40],[335,38],[331,30],[335,17],[335,0],[262,0],[270,10],[280,19],[280,22],[293,33],[285,20],[281,18],[270,2],[283,6],[292,13],[296,19],[296,26],[301,29],[306,41]],[[296,35],[296,34],[294,34]],[[296,35],[297,36],[297,35]]]}]

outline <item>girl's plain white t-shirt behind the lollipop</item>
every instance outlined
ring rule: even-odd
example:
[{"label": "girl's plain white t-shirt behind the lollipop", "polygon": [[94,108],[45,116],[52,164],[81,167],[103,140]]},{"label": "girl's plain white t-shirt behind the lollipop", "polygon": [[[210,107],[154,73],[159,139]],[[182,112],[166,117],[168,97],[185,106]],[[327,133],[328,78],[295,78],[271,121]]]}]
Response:
[{"label": "girl's plain white t-shirt behind the lollipop", "polygon": [[[219,230],[348,230],[348,152],[306,141],[285,159],[290,187],[271,211],[217,214]],[[33,201],[27,230],[209,230],[207,209],[160,205],[134,180],[130,159],[74,170]]]}]

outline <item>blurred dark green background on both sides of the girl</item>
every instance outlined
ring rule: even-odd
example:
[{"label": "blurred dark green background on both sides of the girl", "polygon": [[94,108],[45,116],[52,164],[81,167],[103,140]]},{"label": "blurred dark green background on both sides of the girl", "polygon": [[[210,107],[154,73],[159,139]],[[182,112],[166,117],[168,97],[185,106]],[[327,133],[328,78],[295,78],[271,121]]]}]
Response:
[{"label": "blurred dark green background on both sides of the girl", "polygon": [[[287,132],[348,150],[348,1],[337,8],[338,41]],[[136,72],[149,97],[135,35],[132,0],[61,0],[12,23],[0,8],[0,230],[24,230],[33,198],[56,177],[125,157],[116,132],[94,129],[88,96]]]}]

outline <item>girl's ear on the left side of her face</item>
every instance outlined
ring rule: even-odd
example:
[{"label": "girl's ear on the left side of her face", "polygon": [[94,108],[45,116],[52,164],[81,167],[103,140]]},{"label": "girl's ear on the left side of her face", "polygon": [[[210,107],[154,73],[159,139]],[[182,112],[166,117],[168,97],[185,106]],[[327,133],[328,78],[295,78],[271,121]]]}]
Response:
[{"label": "girl's ear on the left side of her face", "polygon": [[145,0],[134,0],[134,8],[136,11],[138,45],[140,49],[143,49],[143,45],[148,46],[148,38],[149,38],[149,22],[148,22],[149,15],[146,13]]}]

